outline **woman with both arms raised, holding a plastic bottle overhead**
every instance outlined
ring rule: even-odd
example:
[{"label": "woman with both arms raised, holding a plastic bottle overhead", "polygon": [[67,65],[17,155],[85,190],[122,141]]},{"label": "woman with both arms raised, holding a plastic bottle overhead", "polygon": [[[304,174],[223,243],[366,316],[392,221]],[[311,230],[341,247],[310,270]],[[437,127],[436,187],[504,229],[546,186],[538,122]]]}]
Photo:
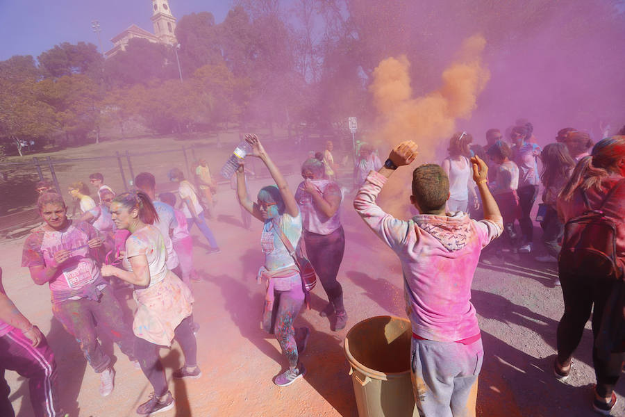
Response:
[{"label": "woman with both arms raised, holding a plastic bottle overhead", "polygon": [[283,354],[289,361],[289,368],[277,375],[274,384],[287,386],[306,373],[299,362],[299,354],[306,347],[310,330],[307,327],[294,328],[293,322],[304,304],[305,295],[299,269],[283,243],[288,239],[297,247],[301,238],[301,215],[288,183],[269,158],[256,135],[247,135],[245,140],[256,156],[267,166],[276,181],[276,186],[267,186],[258,192],[258,202],[252,202],[245,187],[243,164],[237,170],[237,194],[240,204],[255,218],[263,222],[260,246],[265,253],[265,265],[258,271],[259,278],[267,281],[263,329],[276,334]]}]

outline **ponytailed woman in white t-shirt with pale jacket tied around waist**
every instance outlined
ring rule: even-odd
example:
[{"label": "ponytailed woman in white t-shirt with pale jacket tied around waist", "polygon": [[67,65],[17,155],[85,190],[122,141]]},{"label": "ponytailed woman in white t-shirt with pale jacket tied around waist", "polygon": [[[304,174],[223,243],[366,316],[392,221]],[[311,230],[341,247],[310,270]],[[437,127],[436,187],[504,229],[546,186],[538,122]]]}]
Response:
[{"label": "ponytailed woman in white t-shirt with pale jacket tied around waist", "polygon": [[174,407],[167,389],[167,379],[158,357],[160,346],[170,347],[175,338],[185,355],[185,366],[174,372],[174,378],[199,378],[197,344],[192,331],[191,291],[167,269],[167,250],[160,231],[153,226],[158,213],[150,197],[142,191],[124,193],[113,199],[110,213],[117,229],[130,231],[123,254],[122,270],[104,265],[102,275],[115,276],[135,286],[138,309],[133,320],[135,352],[141,370],[154,392],[141,404],[138,414],[151,414]]}]

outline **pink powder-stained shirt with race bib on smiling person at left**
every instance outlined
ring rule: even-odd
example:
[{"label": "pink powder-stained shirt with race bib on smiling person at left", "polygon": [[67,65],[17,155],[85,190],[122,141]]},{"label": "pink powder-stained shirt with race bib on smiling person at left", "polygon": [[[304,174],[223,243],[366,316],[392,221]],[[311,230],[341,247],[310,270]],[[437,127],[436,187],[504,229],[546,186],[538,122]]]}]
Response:
[{"label": "pink powder-stained shirt with race bib on smiling person at left", "polygon": [[[45,225],[37,227],[24,242],[22,266],[48,267],[54,254],[60,250],[71,251],[69,260],[62,263],[54,277],[48,282],[50,291],[69,291],[83,288],[100,277],[100,268],[93,259],[88,241],[99,236],[99,232],[88,222],[69,221],[63,231],[49,231]],[[60,300],[56,300],[60,301]]]}]

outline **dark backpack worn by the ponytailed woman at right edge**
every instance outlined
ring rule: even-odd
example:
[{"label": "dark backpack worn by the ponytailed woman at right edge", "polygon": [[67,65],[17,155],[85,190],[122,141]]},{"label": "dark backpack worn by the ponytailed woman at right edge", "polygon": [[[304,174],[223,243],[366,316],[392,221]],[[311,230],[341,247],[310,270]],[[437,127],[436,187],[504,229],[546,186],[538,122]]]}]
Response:
[{"label": "dark backpack worn by the ponytailed woman at right edge", "polygon": [[612,279],[623,275],[623,267],[616,255],[617,227],[613,220],[603,215],[601,208],[624,181],[616,183],[595,210],[590,208],[588,197],[581,190],[587,211],[565,224],[562,250],[558,257],[560,271]]}]

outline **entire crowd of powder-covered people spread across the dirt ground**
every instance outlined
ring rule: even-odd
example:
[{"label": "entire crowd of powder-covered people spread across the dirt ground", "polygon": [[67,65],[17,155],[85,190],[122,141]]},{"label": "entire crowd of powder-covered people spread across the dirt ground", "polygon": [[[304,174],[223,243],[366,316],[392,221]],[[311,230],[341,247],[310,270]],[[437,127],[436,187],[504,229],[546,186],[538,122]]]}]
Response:
[{"label": "entire crowd of powder-covered people spread across the dirt ground", "polygon": [[[419,414],[475,415],[484,356],[476,309],[470,302],[478,262],[502,264],[518,261],[519,254],[532,254],[539,262],[556,265],[563,259],[561,251],[569,256],[585,249],[583,243],[567,242],[588,213],[601,213],[612,222],[612,235],[593,238],[612,238],[614,253],[601,268],[594,268],[590,258],[575,268],[569,261],[558,264],[555,284],[562,287],[565,311],[552,371],[558,379],[569,376],[574,351],[593,311],[597,386],[592,405],[609,414],[625,351],[625,128],[597,143],[583,131],[565,128],[544,148],[526,121],[507,136],[509,142],[499,129],[489,129],[482,147],[466,131],[455,133],[449,140],[449,156],[440,165],[427,163],[412,172],[410,203],[418,214],[408,221],[385,213],[376,199],[395,170],[415,161],[415,142],[394,147],[385,163],[366,143],[354,158],[353,207],[401,263]],[[319,314],[328,318],[335,332],[348,323],[338,280],[345,250],[340,212],[346,191],[337,182],[340,164],[335,163],[332,142],[303,162],[302,181],[293,193],[260,139],[247,135],[245,141],[251,149],[248,156],[267,167],[274,184],[261,188],[254,201],[248,183],[253,172],[241,159],[231,188],[244,227],[250,228],[252,218],[263,224],[260,249],[265,260],[258,270],[258,281],[265,283],[261,323],[276,336],[288,365],[274,377],[274,384],[288,386],[306,374],[301,353],[311,332],[296,325],[315,282],[306,265],[312,266],[328,299]],[[97,202],[85,183],[69,186],[69,195],[82,211],[72,219],[53,185],[42,181],[37,189],[44,222],[24,243],[22,266],[35,284],[49,285],[53,316],[76,338],[86,361],[100,375],[101,395],[109,395],[115,385],[111,359],[98,341],[103,333],[142,370],[153,388],[137,409],[142,415],[174,405],[158,347],[170,347],[174,340],[181,346],[185,362],[174,378],[201,376],[194,336],[199,325],[193,318],[192,281],[198,277],[190,237],[193,225],[208,243],[207,254],[220,249],[205,220],[215,216],[215,180],[205,160],[194,174],[195,184],[181,170],[170,170],[167,177],[177,184],[177,195],[160,193],[157,199],[156,178],[149,172],[135,177],[134,190],[119,195],[104,184],[102,174],[94,173],[90,184],[97,190]],[[543,247],[538,249],[532,215],[541,188],[536,221],[543,230]],[[133,291],[132,323],[124,321],[115,288]],[[14,368],[0,366],[0,413],[12,415],[3,373],[15,369],[30,379],[37,416],[63,415],[53,352],[38,328],[4,294],[0,270],[0,358],[8,357],[24,360]]]}]

